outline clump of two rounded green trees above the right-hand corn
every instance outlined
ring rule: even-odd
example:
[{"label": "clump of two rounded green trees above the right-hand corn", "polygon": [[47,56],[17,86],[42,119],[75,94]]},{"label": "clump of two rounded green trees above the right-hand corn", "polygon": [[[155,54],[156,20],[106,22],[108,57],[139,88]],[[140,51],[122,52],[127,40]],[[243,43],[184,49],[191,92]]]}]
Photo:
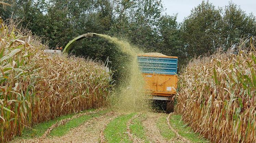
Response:
[{"label": "clump of two rounded green trees above the right-hand corn", "polygon": [[[241,38],[256,36],[256,19],[230,2],[216,8],[208,0],[196,6],[181,25],[181,35],[188,59],[224,51],[240,44]],[[248,41],[247,41],[248,42]]]}]

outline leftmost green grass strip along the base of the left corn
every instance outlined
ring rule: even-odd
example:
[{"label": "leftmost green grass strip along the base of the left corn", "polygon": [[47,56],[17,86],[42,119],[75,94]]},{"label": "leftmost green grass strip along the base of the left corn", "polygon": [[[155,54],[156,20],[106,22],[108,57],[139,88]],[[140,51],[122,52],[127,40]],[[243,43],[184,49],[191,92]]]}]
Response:
[{"label": "leftmost green grass strip along the base of the left corn", "polygon": [[[82,111],[80,113],[84,113],[84,112],[89,112],[89,111],[94,111],[95,109],[89,109],[89,110],[85,110]],[[68,114],[68,115],[63,115],[60,117],[57,117],[54,120],[49,120],[47,122],[43,122],[40,124],[36,124],[32,127],[32,129],[30,128],[24,128],[23,132],[22,132],[22,136],[21,137],[17,137],[17,138],[21,138],[21,139],[32,139],[34,137],[40,137],[42,136],[45,131],[51,127],[53,124],[57,123],[60,120],[72,117],[75,114]]]}]

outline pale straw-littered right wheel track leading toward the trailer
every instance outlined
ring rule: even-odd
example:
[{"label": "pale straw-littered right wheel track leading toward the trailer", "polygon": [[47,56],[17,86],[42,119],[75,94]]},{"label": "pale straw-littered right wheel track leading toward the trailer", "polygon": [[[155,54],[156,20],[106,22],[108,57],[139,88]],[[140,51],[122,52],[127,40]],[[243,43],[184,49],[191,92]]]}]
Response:
[{"label": "pale straw-littered right wheel track leading toward the trailer", "polygon": [[146,130],[146,135],[150,142],[168,142],[161,136],[161,133],[156,125],[158,119],[161,117],[160,113],[148,113],[146,120],[142,122]]}]

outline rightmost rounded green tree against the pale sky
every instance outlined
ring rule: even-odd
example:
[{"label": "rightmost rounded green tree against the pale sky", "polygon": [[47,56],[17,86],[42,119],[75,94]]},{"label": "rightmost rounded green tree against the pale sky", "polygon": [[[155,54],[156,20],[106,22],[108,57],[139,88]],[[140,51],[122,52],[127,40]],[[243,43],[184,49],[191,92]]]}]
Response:
[{"label": "rightmost rounded green tree against the pale sky", "polygon": [[230,2],[223,11],[221,31],[223,49],[235,47],[241,38],[256,36],[255,16],[252,13],[246,14],[240,6]]}]

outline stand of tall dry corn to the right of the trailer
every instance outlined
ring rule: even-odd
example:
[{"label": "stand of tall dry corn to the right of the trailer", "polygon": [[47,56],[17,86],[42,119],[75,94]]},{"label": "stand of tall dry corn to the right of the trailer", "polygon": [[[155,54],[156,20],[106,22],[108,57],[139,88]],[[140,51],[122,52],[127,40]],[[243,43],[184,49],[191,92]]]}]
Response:
[{"label": "stand of tall dry corn to the right of the trailer", "polygon": [[212,142],[256,141],[256,51],[195,59],[180,75],[176,111]]}]

